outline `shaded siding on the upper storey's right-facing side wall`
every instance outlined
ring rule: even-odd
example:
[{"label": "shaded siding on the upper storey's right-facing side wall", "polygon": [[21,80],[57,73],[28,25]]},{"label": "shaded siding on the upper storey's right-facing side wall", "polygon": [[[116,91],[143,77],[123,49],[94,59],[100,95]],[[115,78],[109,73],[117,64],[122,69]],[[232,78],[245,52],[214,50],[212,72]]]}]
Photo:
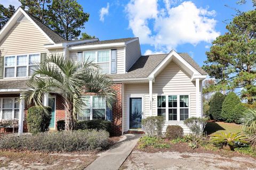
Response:
[{"label": "shaded siding on the upper storey's right-facing side wall", "polygon": [[125,71],[129,71],[132,65],[138,60],[141,56],[140,44],[139,41],[132,41],[128,43],[125,48]]}]

